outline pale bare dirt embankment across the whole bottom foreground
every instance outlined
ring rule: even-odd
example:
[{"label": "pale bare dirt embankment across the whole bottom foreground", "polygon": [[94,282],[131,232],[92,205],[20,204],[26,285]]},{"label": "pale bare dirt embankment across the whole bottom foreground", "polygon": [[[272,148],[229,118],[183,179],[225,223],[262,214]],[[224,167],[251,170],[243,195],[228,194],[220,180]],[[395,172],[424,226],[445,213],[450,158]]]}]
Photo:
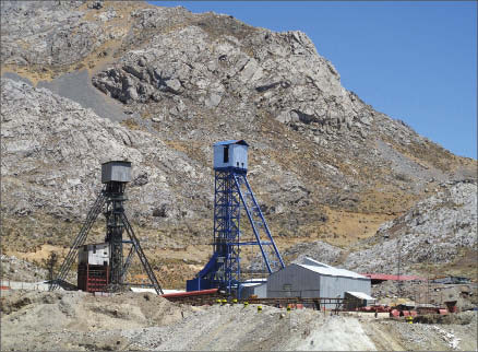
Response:
[{"label": "pale bare dirt embankment across the whole bottom foreground", "polygon": [[[444,351],[477,349],[477,314],[406,324],[367,315],[256,305],[177,305],[153,294],[10,292],[1,298],[1,350]],[[449,322],[449,324],[446,324]]]}]

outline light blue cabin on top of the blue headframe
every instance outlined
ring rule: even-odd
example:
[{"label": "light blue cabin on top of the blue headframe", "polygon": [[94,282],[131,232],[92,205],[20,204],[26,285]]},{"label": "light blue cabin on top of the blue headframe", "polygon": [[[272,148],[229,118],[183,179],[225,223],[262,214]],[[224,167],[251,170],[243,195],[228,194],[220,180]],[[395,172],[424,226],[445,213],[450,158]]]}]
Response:
[{"label": "light blue cabin on top of the blue headframe", "polygon": [[214,169],[248,171],[248,148],[244,140],[214,143]]}]

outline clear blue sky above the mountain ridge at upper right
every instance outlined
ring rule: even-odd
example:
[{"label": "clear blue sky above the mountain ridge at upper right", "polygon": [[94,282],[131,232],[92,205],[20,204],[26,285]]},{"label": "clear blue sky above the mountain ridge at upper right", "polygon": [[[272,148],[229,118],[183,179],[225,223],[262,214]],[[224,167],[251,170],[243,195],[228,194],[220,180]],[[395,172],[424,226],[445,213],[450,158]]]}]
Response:
[{"label": "clear blue sky above the mountain ridge at upper right", "polygon": [[150,1],[300,30],[366,103],[477,157],[477,2]]}]

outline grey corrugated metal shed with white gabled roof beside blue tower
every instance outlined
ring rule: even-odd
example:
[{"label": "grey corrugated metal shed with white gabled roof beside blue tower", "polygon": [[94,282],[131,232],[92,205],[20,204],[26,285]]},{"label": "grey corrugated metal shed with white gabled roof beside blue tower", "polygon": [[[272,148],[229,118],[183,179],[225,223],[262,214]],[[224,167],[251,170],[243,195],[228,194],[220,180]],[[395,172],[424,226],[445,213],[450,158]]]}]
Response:
[{"label": "grey corrugated metal shed with white gabled roof beside blue tower", "polygon": [[272,273],[267,280],[267,297],[344,297],[344,293],[371,294],[370,279],[306,258]]}]

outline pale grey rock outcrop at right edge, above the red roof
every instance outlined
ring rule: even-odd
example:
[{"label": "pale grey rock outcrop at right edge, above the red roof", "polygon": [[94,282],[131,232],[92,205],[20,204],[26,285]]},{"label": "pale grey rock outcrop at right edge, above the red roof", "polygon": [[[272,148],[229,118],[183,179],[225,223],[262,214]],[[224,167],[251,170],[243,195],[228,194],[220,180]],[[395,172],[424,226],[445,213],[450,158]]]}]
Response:
[{"label": "pale grey rock outcrop at right edge, above the red roof", "polygon": [[[464,250],[477,251],[477,184],[446,183],[437,195],[384,223],[343,265],[361,272],[394,272],[452,263]],[[420,268],[420,265],[423,268]],[[469,272],[468,274],[473,274]]]}]

